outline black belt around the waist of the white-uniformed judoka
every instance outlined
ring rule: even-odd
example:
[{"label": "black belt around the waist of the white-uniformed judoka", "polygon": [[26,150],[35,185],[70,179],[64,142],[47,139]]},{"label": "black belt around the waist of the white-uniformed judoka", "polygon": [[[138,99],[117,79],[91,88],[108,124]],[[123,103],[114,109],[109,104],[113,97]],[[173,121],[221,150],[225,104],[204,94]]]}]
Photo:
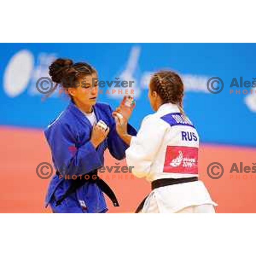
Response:
[{"label": "black belt around the waist of the white-uniformed judoka", "polygon": [[[160,188],[163,186],[170,186],[170,185],[175,185],[175,184],[180,184],[180,183],[185,183],[185,182],[192,182],[192,181],[196,181],[196,180],[198,180],[198,177],[154,180],[151,182],[151,190],[154,190],[154,189],[157,189],[157,188]],[[142,210],[147,198],[148,198],[148,195],[143,199],[143,201],[137,207],[135,213],[139,213]]]}]

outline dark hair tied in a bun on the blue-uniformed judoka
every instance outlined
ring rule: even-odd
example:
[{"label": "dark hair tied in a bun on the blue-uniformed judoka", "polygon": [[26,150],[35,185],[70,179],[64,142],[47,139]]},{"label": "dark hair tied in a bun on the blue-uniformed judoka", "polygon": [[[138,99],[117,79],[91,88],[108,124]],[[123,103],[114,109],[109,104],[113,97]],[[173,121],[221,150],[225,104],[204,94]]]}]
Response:
[{"label": "dark hair tied in a bun on the blue-uniformed judoka", "polygon": [[55,82],[55,86],[49,94],[54,92],[58,84],[66,89],[76,87],[78,79],[93,73],[97,73],[96,70],[85,62],[73,63],[71,59],[58,58],[49,66],[49,75]]}]

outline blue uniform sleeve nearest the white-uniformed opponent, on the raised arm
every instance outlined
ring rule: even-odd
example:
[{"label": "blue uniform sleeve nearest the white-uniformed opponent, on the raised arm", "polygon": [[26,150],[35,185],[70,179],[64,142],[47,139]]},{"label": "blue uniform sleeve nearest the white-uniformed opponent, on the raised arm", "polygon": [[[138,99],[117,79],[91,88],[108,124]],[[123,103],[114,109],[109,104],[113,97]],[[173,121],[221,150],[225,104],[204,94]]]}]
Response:
[{"label": "blue uniform sleeve nearest the white-uniformed opponent, on the raised arm", "polygon": [[[112,155],[112,157],[116,158],[117,160],[122,160],[125,158],[125,150],[129,147],[117,134],[116,132],[116,122],[115,119],[112,117],[113,110],[109,106],[110,112],[110,131],[108,134],[108,149]],[[132,136],[137,135],[137,131],[133,128],[130,124],[127,126],[128,134]]]}]

